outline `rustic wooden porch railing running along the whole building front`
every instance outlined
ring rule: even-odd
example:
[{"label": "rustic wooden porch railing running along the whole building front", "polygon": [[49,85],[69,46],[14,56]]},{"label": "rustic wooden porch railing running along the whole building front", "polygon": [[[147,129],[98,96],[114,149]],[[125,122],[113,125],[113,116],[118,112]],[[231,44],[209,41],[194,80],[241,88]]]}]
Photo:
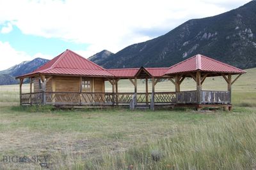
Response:
[{"label": "rustic wooden porch railing running along the whole building front", "polygon": [[[20,95],[21,104],[71,104],[71,105],[129,105],[135,104],[219,104],[230,103],[230,93],[225,91],[200,92],[154,92],[152,93],[110,93],[110,92],[35,92]],[[152,101],[154,99],[154,101]],[[134,101],[136,100],[136,101]]]}]

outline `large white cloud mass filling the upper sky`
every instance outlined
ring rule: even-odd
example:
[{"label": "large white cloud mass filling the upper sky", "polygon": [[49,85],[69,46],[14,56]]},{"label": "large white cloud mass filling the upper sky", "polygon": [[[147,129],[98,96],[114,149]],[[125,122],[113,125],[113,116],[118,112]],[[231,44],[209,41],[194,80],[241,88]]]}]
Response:
[{"label": "large white cloud mass filling the upper sky", "polygon": [[168,32],[188,19],[223,13],[234,8],[234,4],[239,7],[247,2],[10,0],[0,1],[0,23],[12,21],[24,34],[88,43],[90,46],[83,53],[90,56],[103,49],[117,52],[127,45],[156,36],[143,31]]}]

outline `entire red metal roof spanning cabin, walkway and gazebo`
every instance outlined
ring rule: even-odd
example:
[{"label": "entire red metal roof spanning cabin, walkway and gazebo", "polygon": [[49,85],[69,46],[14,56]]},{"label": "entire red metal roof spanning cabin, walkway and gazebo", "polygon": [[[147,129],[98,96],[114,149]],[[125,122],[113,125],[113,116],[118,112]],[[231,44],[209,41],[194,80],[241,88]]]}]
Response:
[{"label": "entire red metal roof spanning cabin, walkway and gazebo", "polygon": [[[33,74],[67,74],[81,76],[110,76],[118,78],[133,78],[141,69],[145,69],[150,76],[161,77],[165,74],[186,73],[193,71],[209,71],[217,73],[246,73],[242,69],[230,66],[218,60],[205,57],[204,55],[195,55],[171,67],[150,67],[150,68],[124,68],[124,69],[104,69],[94,62],[84,59],[71,50],[66,50],[43,66],[39,67]],[[19,76],[19,77],[22,77]],[[19,78],[17,77],[17,78]]]}]

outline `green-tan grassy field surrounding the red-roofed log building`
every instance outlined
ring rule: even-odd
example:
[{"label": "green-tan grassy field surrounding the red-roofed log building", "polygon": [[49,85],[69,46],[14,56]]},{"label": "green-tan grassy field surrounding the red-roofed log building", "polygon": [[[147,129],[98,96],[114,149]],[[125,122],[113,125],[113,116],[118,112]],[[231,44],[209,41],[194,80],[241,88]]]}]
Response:
[{"label": "green-tan grassy field surrounding the red-roofed log building", "polygon": [[[19,86],[0,86],[0,169],[44,169],[3,161],[15,155],[45,156],[49,169],[256,169],[256,69],[247,71],[232,86],[232,112],[26,108],[17,106]],[[222,79],[203,89],[226,90]],[[157,91],[172,89],[157,83]],[[181,89],[195,83],[184,80]],[[121,81],[119,90],[133,88]]]}]

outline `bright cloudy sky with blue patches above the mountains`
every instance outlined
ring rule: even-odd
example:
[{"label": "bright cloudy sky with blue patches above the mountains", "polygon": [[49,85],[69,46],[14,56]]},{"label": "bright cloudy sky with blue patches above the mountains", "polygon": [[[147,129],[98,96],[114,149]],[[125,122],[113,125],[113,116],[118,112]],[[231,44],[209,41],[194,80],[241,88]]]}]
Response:
[{"label": "bright cloudy sky with blue patches above the mountains", "polygon": [[0,0],[0,70],[66,49],[113,53],[248,0]]}]

